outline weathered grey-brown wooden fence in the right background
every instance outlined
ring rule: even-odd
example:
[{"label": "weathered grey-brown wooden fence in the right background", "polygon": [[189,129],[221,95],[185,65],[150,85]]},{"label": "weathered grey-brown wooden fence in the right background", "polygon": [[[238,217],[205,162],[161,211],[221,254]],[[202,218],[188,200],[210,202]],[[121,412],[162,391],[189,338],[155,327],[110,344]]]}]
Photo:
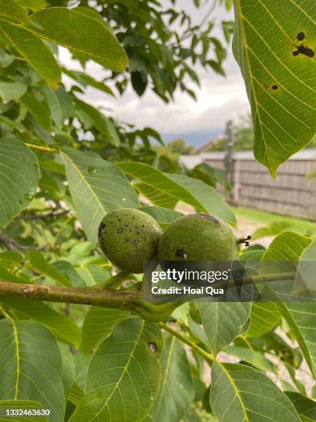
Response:
[{"label": "weathered grey-brown wooden fence in the right background", "polygon": [[[182,155],[180,161],[193,168],[208,163],[224,169],[224,152]],[[316,168],[316,150],[302,150],[282,164],[275,180],[255,161],[253,152],[234,152],[231,156],[231,199],[236,205],[287,214],[316,221],[316,178],[306,174]]]}]

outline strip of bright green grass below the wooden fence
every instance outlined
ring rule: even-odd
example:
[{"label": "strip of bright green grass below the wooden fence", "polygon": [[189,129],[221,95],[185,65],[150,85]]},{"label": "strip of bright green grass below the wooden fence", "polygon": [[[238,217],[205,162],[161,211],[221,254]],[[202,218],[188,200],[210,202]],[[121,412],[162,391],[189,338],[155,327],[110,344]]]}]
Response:
[{"label": "strip of bright green grass below the wooden fence", "polygon": [[288,223],[288,225],[297,228],[302,232],[310,232],[316,234],[316,224],[312,221],[295,219],[295,217],[287,217],[285,215],[271,214],[269,212],[262,212],[257,210],[249,210],[246,208],[232,207],[236,219],[247,219],[249,221],[257,221],[264,225],[271,223]]}]

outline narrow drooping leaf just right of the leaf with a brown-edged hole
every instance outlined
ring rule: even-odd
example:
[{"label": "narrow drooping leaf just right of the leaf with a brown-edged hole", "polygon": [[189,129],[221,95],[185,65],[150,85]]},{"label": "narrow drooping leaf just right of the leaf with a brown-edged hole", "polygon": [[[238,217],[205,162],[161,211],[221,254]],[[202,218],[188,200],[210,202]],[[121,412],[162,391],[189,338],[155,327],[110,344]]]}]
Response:
[{"label": "narrow drooping leaf just right of the leaf with a brown-edged hole", "polygon": [[151,410],[155,422],[180,421],[194,398],[187,354],[176,337],[167,336],[160,356],[162,383]]}]

